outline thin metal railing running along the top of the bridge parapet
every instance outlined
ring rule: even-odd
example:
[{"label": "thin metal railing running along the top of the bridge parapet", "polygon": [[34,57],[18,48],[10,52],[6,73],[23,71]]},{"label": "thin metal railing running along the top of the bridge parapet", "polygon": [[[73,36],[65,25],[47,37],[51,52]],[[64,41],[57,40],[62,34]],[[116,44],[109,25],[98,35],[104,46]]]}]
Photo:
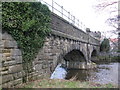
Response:
[{"label": "thin metal railing running along the top of the bridge parapet", "polygon": [[86,26],[79,19],[77,19],[74,15],[72,15],[69,11],[65,10],[63,6],[59,5],[53,0],[51,0],[50,4],[45,2],[44,0],[39,0],[39,1],[43,4],[46,4],[53,13],[64,18],[72,25],[86,32]]}]

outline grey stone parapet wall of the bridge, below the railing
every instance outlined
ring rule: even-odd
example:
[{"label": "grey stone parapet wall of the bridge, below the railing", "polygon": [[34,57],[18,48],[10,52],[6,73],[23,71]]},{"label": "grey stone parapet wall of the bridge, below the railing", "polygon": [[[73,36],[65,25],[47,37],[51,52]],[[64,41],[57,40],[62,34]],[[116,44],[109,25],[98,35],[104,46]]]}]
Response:
[{"label": "grey stone parapet wall of the bridge, below the railing", "polygon": [[75,40],[79,40],[81,42],[89,43],[92,45],[99,45],[98,39],[90,36],[88,33],[85,33],[58,15],[51,13],[51,18],[51,28],[53,32],[59,31],[60,33],[69,35],[69,38],[75,38]]}]

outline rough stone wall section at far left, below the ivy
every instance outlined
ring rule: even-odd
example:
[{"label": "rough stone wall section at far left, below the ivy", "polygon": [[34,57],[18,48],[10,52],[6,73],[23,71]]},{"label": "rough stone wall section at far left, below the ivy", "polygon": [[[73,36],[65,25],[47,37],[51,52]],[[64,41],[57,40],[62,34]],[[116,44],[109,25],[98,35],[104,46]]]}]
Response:
[{"label": "rough stone wall section at far left, below the ivy", "polygon": [[[1,33],[0,33],[1,34]],[[22,68],[22,54],[16,41],[7,32],[1,34],[0,41],[0,74],[2,87],[14,87],[22,83],[24,75]]]}]

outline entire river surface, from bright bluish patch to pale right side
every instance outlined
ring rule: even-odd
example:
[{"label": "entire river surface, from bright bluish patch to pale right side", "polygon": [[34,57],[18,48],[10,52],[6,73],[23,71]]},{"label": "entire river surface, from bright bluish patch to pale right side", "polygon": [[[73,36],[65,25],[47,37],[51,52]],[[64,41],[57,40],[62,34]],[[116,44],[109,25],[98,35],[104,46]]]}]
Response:
[{"label": "entire river surface, from bright bluish patch to pale right side", "polygon": [[117,84],[119,75],[120,63],[107,63],[98,64],[96,69],[80,70],[80,69],[69,69],[66,70],[61,65],[58,65],[51,79],[73,79],[79,81],[92,81],[101,84]]}]

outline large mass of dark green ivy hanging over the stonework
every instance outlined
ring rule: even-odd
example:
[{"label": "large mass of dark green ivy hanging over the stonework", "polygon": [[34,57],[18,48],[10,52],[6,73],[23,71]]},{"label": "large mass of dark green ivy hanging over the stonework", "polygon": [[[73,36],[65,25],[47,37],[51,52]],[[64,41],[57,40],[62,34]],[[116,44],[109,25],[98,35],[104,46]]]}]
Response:
[{"label": "large mass of dark green ivy hanging over the stonework", "polygon": [[26,73],[50,32],[50,10],[40,2],[2,2],[2,29],[17,41]]}]

